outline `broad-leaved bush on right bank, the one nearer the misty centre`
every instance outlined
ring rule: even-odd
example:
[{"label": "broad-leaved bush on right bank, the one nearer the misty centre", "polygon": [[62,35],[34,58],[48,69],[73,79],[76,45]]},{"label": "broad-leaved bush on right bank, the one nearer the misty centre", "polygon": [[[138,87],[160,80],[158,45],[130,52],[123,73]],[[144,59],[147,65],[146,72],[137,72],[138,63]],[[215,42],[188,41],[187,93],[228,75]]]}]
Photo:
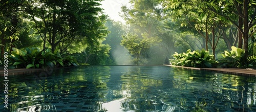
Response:
[{"label": "broad-leaved bush on right bank, the one nearer the misty centre", "polygon": [[212,64],[218,63],[214,60],[213,55],[209,55],[208,51],[202,49],[201,51],[187,50],[186,53],[178,54],[175,52],[173,55],[175,59],[170,59],[172,65],[187,66],[195,68],[212,68]]}]

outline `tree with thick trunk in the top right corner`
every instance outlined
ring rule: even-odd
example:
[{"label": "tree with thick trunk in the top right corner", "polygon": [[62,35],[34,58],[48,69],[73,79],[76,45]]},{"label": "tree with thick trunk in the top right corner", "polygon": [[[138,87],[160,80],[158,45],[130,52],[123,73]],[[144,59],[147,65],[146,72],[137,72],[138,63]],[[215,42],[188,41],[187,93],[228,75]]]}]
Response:
[{"label": "tree with thick trunk in the top right corner", "polygon": [[[243,44],[246,58],[248,55],[248,39],[255,32],[254,26],[256,24],[256,2],[253,0],[212,1],[211,3],[206,2],[206,5],[210,11],[227,18],[234,26],[238,28],[238,47],[242,48]],[[250,33],[250,31],[252,32]]]}]

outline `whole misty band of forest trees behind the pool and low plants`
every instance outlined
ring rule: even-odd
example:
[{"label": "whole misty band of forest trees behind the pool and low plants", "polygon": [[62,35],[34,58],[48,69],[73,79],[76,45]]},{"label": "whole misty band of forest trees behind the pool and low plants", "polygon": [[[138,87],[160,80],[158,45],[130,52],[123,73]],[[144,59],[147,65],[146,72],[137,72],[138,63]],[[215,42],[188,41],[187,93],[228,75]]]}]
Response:
[{"label": "whole misty band of forest trees behind the pool and low plants", "polygon": [[232,46],[244,57],[256,50],[252,0],[131,0],[121,7],[125,23],[105,15],[101,0],[0,2],[2,62],[12,48],[58,51],[91,65],[164,64],[188,49],[214,59]]}]

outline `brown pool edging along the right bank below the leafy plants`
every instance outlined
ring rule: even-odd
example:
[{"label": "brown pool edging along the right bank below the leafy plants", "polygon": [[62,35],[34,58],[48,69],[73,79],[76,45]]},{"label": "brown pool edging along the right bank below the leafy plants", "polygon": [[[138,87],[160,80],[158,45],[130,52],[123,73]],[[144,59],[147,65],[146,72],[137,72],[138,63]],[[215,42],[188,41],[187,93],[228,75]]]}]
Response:
[{"label": "brown pool edging along the right bank below the leafy plants", "polygon": [[216,72],[216,73],[222,73],[222,74],[232,74],[232,75],[256,77],[256,70],[253,70],[253,69],[191,68],[191,67],[168,65],[168,64],[164,64],[164,65],[165,66],[172,66],[172,67],[176,67],[176,68],[194,69],[194,70],[210,71],[210,72]]}]

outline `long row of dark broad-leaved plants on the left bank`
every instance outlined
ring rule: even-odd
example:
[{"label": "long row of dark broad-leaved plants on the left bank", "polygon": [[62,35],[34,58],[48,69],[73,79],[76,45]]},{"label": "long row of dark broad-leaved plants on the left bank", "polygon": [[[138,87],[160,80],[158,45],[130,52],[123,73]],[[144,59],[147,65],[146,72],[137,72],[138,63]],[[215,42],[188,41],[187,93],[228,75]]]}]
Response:
[{"label": "long row of dark broad-leaved plants on the left bank", "polygon": [[[71,66],[77,65],[73,56],[61,56],[58,50],[51,52],[50,49],[39,51],[37,48],[26,48],[26,52],[12,48],[10,55],[11,62],[16,68],[54,68],[56,65]],[[62,54],[63,55],[63,54]]]}]

